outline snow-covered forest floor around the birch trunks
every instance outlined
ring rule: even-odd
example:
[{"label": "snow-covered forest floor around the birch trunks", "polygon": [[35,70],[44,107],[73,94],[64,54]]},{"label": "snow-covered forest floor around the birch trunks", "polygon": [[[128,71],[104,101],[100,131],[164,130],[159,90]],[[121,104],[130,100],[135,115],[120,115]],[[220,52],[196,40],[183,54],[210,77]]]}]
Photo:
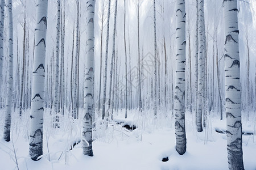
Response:
[{"label": "snow-covered forest floor around the birch trunks", "polygon": [[[80,112],[82,113],[82,111]],[[137,114],[132,114],[137,113]],[[93,157],[82,154],[81,142],[71,150],[72,143],[80,141],[82,120],[70,121],[66,116],[60,120],[60,128],[52,128],[50,114],[44,115],[44,155],[37,162],[28,156],[28,120],[29,114],[13,118],[11,142],[2,139],[3,117],[0,116],[0,169],[228,169],[225,120],[218,121],[216,116],[208,117],[208,126],[197,133],[193,124],[193,114],[186,114],[187,152],[177,154],[175,150],[174,120],[162,116],[151,119],[149,114],[133,111],[124,119],[123,112],[114,116],[108,128],[96,122],[94,131]],[[2,113],[0,115],[3,115]],[[121,123],[123,122],[123,123]],[[245,169],[256,169],[256,135],[253,135],[255,122],[243,121],[243,162]],[[123,128],[125,124],[137,129]],[[61,128],[63,127],[63,128]],[[134,126],[135,127],[135,126]],[[71,135],[72,134],[72,135]],[[15,150],[15,151],[14,151]],[[15,156],[16,155],[16,156]],[[163,162],[163,158],[166,162]]]}]

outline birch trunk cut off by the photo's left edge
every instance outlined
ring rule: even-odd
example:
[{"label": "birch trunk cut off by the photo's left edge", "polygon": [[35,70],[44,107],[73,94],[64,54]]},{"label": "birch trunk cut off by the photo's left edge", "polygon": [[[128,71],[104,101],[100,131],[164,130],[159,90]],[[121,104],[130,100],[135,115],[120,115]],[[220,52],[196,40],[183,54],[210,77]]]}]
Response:
[{"label": "birch trunk cut off by the photo's left edge", "polygon": [[[3,84],[3,28],[4,28],[4,23],[5,23],[5,0],[0,1],[0,84],[2,87]],[[2,88],[0,88],[0,108],[2,108]]]}]

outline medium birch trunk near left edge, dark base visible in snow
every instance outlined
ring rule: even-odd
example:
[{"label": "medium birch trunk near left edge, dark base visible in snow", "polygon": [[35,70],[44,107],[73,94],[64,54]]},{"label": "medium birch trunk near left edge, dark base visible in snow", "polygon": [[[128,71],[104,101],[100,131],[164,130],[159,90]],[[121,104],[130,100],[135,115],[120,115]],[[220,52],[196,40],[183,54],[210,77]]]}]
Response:
[{"label": "medium birch trunk near left edge, dark base visible in snow", "polygon": [[9,20],[9,43],[8,43],[8,77],[7,77],[7,99],[5,111],[5,127],[3,139],[10,141],[11,112],[13,111],[13,1],[8,0],[8,20]]}]

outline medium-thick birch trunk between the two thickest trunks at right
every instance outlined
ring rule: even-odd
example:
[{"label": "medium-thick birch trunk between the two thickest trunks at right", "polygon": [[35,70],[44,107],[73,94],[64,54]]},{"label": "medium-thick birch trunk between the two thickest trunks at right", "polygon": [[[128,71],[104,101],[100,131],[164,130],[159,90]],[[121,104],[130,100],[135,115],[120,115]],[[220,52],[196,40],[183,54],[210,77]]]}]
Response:
[{"label": "medium-thick birch trunk between the two thickest trunks at right", "polygon": [[204,0],[199,1],[199,54],[198,54],[198,86],[197,86],[197,111],[196,111],[196,130],[203,131],[202,113],[204,100]]}]

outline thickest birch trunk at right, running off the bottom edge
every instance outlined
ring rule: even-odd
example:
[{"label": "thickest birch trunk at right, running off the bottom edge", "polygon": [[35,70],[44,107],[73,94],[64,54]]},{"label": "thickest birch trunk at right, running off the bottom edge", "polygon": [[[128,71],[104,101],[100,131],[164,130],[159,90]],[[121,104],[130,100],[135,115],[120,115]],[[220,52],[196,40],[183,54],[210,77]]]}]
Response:
[{"label": "thickest birch trunk at right, running off the bottom edge", "polygon": [[243,168],[240,56],[237,0],[223,1],[226,94],[226,135],[229,169]]}]

